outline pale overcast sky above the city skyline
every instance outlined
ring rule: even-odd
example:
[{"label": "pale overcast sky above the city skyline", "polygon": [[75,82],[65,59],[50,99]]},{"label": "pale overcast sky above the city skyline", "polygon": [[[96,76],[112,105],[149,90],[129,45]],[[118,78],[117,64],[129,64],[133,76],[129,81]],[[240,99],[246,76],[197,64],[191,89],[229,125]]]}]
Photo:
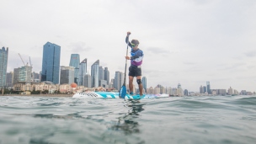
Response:
[{"label": "pale overcast sky above the city skyline", "polygon": [[61,46],[61,66],[77,53],[89,72],[99,59],[114,78],[125,72],[127,31],[144,51],[148,87],[198,92],[210,81],[212,89],[256,91],[255,0],[0,0],[8,72],[24,65],[19,54],[40,72],[49,41]]}]

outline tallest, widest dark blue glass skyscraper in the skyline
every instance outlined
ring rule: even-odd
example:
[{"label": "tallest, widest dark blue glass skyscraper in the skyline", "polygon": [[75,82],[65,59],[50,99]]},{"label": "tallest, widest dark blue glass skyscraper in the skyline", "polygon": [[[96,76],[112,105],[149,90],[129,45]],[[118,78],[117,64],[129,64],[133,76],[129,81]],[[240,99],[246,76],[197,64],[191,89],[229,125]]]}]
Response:
[{"label": "tallest, widest dark blue glass skyscraper in the skyline", "polygon": [[47,42],[44,45],[41,81],[58,84],[60,78],[61,46]]}]

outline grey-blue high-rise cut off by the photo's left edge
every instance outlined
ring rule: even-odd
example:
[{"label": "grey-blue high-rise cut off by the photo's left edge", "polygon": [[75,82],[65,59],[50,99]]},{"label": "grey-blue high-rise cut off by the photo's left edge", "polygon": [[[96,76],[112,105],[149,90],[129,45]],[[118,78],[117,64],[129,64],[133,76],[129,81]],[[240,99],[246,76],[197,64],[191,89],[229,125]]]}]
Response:
[{"label": "grey-blue high-rise cut off by the photo's left edge", "polygon": [[0,88],[6,86],[6,73],[8,64],[8,48],[0,49]]}]

